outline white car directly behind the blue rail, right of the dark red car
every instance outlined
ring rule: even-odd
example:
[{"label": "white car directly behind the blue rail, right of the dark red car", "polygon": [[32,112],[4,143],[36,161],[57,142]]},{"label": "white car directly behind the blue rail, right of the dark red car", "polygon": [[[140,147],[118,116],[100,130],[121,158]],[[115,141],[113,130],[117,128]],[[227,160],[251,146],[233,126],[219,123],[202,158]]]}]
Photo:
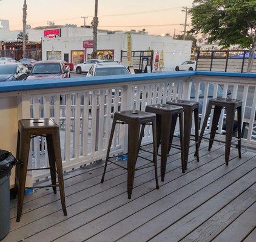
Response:
[{"label": "white car directly behind the blue rail, right of the dark red car", "polygon": [[130,71],[120,62],[100,62],[93,64],[87,76],[110,76],[130,74]]}]

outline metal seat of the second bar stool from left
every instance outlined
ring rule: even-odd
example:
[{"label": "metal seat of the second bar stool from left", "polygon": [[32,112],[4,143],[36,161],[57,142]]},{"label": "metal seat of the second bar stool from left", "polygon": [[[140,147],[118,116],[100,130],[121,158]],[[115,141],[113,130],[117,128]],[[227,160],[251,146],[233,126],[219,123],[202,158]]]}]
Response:
[{"label": "metal seat of the second bar stool from left", "polygon": [[140,110],[126,110],[119,111],[115,113],[116,119],[124,122],[129,122],[129,120],[143,120],[155,117],[152,113],[146,113]]}]

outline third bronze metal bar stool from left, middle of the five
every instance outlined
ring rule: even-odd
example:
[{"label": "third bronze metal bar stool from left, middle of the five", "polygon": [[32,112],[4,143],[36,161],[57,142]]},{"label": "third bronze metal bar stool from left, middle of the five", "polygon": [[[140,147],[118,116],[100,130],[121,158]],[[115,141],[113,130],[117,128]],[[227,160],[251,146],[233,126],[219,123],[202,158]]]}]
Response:
[{"label": "third bronze metal bar stool from left, middle of the five", "polygon": [[[166,162],[169,153],[170,134],[173,129],[173,120],[180,120],[180,146],[172,145],[173,148],[181,151],[182,172],[185,172],[184,151],[183,151],[183,107],[168,104],[147,105],[146,112],[157,115],[157,150],[161,143],[161,181],[164,181],[166,174]],[[176,124],[176,122],[175,122]],[[175,126],[174,126],[175,129]]]}]

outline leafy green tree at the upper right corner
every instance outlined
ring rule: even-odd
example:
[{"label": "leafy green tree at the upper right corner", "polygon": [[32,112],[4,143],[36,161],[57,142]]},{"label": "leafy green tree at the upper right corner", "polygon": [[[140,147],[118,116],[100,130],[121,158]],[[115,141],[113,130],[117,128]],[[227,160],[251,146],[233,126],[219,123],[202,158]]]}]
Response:
[{"label": "leafy green tree at the upper right corner", "polygon": [[[256,0],[194,0],[190,14],[190,33],[209,34],[208,42],[218,41],[226,48],[231,45],[249,48],[253,61],[256,50]],[[252,66],[252,63],[249,65]]]}]

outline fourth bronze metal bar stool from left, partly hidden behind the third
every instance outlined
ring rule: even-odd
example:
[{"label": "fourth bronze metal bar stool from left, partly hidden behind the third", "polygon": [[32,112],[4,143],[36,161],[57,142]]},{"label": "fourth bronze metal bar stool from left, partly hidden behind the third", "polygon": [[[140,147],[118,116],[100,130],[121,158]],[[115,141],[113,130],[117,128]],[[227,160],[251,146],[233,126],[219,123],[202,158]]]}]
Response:
[{"label": "fourth bronze metal bar stool from left, partly hidden behind the third", "polygon": [[[184,112],[184,160],[185,160],[185,169],[187,169],[187,162],[189,157],[189,148],[190,146],[190,136],[192,129],[192,116],[194,113],[194,123],[195,123],[195,156],[197,156],[197,162],[199,162],[199,114],[198,107],[199,103],[190,101],[190,100],[171,100],[167,104],[182,106]],[[185,125],[186,124],[186,125]],[[173,137],[174,129],[172,129],[171,137]],[[170,144],[172,139],[170,139]]]}]

